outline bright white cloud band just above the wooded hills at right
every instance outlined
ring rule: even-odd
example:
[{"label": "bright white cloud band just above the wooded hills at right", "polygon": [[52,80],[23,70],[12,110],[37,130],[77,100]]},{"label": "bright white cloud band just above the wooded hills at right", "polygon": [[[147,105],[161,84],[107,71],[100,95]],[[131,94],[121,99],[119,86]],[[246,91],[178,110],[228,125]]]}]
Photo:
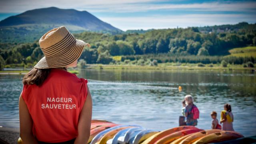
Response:
[{"label": "bright white cloud band just above the wooded hills at right", "polygon": [[149,17],[101,17],[101,20],[120,28],[131,29],[162,29],[212,26],[221,24],[237,24],[238,22],[256,22],[252,16],[244,14],[186,14],[182,16],[149,16]]}]

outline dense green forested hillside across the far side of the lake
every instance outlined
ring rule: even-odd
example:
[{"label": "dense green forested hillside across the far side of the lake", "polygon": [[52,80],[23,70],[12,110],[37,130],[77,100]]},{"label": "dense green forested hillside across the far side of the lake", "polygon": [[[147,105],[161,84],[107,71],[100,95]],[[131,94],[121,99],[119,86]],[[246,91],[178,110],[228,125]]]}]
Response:
[{"label": "dense green forested hillside across the far side of the lake", "polygon": [[[243,26],[246,24],[242,23]],[[82,32],[74,36],[91,44],[91,48],[85,48],[81,56],[88,64],[115,63],[112,56],[123,56],[123,61],[125,58],[153,60],[158,57],[158,62],[181,62],[180,58],[190,58],[191,60],[186,62],[216,63],[223,59],[222,56],[230,54],[228,50],[232,48],[256,45],[255,24],[247,24],[245,27],[237,29],[237,25],[234,25],[234,28],[230,25],[228,31],[207,33],[200,32],[200,28],[192,27],[150,30],[141,34],[133,32],[111,35]],[[23,44],[1,43],[0,54],[5,64],[33,65],[43,56],[37,41]],[[254,63],[255,57],[240,58],[238,63]],[[232,60],[227,60],[228,62],[234,63],[238,58],[229,59]]]}]

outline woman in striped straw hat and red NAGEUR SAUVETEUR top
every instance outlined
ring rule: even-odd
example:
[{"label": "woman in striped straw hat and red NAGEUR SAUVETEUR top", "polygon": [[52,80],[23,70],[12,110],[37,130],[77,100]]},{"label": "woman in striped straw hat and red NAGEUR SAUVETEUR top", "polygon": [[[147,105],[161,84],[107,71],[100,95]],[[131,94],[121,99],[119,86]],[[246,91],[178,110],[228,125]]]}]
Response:
[{"label": "woman in striped straw hat and red NAGEUR SAUVETEUR top", "polygon": [[87,80],[67,71],[84,46],[64,27],[39,40],[44,57],[23,78],[20,137],[25,144],[85,144],[90,136],[92,99]]}]

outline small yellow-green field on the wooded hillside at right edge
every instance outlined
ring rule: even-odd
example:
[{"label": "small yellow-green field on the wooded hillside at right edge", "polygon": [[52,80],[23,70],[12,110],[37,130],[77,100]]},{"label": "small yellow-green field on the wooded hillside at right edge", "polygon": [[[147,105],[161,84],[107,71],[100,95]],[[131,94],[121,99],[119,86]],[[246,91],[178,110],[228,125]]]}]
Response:
[{"label": "small yellow-green field on the wooded hillside at right edge", "polygon": [[237,56],[237,57],[256,57],[256,46],[247,46],[243,48],[233,48],[229,50],[230,55],[228,56]]}]

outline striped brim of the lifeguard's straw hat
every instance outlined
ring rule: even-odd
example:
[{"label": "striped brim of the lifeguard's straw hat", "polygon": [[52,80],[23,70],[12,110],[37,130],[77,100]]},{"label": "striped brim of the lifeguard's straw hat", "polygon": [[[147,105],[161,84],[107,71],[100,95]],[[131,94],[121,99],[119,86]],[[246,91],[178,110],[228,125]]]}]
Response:
[{"label": "striped brim of the lifeguard's straw hat", "polygon": [[45,68],[59,68],[65,67],[77,60],[83,50],[84,46],[88,45],[88,43],[77,40],[74,44],[69,46],[64,54],[58,54],[52,57],[43,57],[35,66],[34,68],[38,69],[45,69]]}]

